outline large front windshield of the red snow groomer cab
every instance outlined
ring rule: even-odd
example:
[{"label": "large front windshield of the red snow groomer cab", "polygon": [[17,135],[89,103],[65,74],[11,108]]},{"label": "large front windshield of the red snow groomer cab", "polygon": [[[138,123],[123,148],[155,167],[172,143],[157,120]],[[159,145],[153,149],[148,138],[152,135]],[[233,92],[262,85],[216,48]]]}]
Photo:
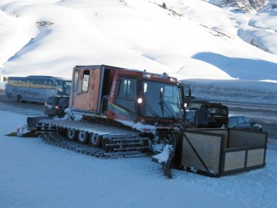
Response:
[{"label": "large front windshield of the red snow groomer cab", "polygon": [[143,81],[142,92],[141,113],[144,116],[182,118],[177,86]]}]

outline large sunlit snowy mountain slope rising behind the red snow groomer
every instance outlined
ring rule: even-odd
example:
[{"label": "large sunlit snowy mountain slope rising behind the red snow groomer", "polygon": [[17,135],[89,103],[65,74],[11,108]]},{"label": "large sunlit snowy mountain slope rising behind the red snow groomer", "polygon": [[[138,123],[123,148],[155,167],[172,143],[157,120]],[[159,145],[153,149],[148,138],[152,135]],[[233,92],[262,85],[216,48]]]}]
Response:
[{"label": "large sunlit snowy mountain slope rising behind the red snow groomer", "polygon": [[162,3],[1,1],[0,74],[71,78],[75,65],[110,64],[179,79],[277,79],[277,56],[237,35],[248,17],[205,1]]}]

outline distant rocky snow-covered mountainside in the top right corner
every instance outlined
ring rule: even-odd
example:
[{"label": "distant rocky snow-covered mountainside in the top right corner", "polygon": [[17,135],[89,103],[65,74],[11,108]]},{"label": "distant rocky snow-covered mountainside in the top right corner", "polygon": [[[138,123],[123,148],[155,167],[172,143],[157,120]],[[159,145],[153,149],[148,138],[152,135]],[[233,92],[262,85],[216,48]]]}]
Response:
[{"label": "distant rocky snow-covered mountainside in the top right corner", "polygon": [[[234,11],[238,36],[245,42],[277,54],[277,1],[206,0]],[[238,12],[240,11],[240,12]],[[245,13],[248,12],[248,13]]]}]

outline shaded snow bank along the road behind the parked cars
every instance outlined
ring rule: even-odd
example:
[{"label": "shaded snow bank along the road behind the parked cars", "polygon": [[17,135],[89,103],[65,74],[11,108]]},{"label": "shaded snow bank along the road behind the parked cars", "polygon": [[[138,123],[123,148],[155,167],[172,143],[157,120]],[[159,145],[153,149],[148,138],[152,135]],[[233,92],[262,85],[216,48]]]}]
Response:
[{"label": "shaded snow bank along the road behind the parked cars", "polygon": [[182,80],[194,96],[212,101],[277,103],[277,83],[256,80]]}]

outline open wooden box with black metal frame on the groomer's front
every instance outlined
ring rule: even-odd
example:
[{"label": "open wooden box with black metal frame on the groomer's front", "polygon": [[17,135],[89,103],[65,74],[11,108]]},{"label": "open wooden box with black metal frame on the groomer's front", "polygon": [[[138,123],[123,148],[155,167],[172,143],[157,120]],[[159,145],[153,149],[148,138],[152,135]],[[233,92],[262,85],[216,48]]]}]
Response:
[{"label": "open wooden box with black metal frame on the groomer's front", "polygon": [[235,129],[184,130],[179,167],[211,177],[265,166],[267,133]]}]

